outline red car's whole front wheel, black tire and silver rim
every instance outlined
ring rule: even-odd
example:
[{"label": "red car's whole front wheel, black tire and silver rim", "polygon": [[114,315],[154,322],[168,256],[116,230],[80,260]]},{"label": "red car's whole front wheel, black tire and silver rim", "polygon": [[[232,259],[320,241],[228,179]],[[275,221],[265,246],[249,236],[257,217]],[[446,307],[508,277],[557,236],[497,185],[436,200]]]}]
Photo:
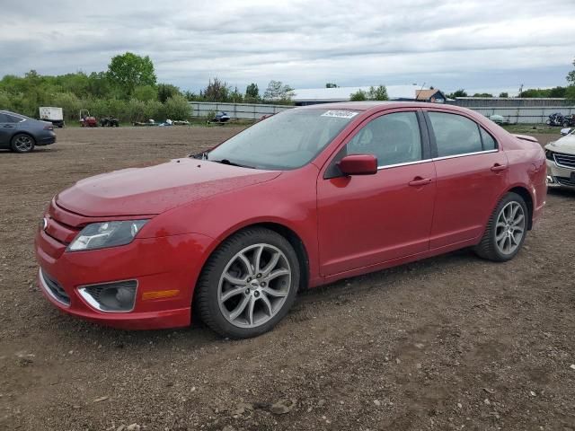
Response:
[{"label": "red car's whole front wheel, black tire and silver rim", "polygon": [[209,257],[194,307],[201,320],[224,337],[257,337],[286,316],[299,279],[299,261],[288,240],[269,229],[249,228],[235,233]]}]

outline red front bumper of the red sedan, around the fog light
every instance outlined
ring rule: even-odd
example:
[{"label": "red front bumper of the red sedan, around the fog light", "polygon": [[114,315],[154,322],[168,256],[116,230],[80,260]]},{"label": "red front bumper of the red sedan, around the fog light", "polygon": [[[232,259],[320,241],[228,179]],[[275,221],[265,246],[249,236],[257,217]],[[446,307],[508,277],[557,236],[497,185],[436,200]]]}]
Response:
[{"label": "red front bumper of the red sedan, around the fog light", "polygon": [[[67,252],[65,245],[39,230],[35,241],[40,263],[38,283],[59,310],[88,321],[129,330],[189,326],[193,289],[211,241],[189,233],[136,239],[109,249]],[[137,280],[130,312],[96,310],[78,292],[82,286],[126,279]],[[54,295],[54,286],[49,286],[52,283],[62,289],[61,295]],[[170,297],[155,295],[165,291],[171,292]]]}]

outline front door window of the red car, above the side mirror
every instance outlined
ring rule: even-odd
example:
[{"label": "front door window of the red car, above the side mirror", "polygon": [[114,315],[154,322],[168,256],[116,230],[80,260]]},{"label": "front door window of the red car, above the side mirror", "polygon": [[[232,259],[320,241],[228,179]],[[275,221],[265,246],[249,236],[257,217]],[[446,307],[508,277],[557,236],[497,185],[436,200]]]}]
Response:
[{"label": "front door window of the red car, above the side mirror", "polygon": [[371,120],[349,141],[347,154],[374,154],[379,166],[421,160],[416,112],[394,112]]}]

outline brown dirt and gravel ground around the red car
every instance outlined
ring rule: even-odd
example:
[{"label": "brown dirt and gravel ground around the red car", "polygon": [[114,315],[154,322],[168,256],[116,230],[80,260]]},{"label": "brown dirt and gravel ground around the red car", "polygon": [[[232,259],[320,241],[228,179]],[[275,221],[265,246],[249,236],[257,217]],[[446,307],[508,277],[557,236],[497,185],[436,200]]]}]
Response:
[{"label": "brown dirt and gravel ground around the red car", "polygon": [[236,131],[70,128],[0,152],[0,429],[575,430],[575,193],[550,192],[517,259],[458,251],[314,289],[258,339],[111,330],[44,299],[32,241],[58,190]]}]

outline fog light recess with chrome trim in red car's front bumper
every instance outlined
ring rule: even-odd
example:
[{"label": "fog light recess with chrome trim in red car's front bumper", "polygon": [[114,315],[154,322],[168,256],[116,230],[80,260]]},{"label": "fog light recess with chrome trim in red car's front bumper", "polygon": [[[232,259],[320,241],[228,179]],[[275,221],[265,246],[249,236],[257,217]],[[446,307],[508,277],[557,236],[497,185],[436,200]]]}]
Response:
[{"label": "fog light recess with chrome trim in red car's front bumper", "polygon": [[136,292],[136,280],[78,288],[84,301],[100,312],[131,312],[136,303]]}]

